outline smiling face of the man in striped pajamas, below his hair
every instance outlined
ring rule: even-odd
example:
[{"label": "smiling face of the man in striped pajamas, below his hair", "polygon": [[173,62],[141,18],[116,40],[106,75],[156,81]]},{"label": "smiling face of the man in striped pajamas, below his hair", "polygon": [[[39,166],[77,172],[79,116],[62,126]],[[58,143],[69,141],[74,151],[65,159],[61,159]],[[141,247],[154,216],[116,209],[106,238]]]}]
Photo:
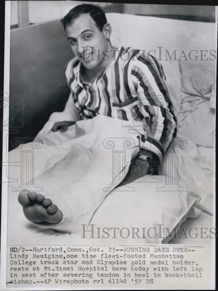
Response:
[{"label": "smiling face of the man in striped pajamas, below his hair", "polygon": [[108,49],[108,32],[100,31],[89,14],[82,14],[66,25],[71,49],[82,65],[91,70],[102,63],[102,52]]}]

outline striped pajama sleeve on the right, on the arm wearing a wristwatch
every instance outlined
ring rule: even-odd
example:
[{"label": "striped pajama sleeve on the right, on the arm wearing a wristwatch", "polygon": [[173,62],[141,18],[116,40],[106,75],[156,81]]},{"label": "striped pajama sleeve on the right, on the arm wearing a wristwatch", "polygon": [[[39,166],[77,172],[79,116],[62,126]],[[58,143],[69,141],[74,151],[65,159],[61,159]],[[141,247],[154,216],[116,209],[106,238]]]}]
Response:
[{"label": "striped pajama sleeve on the right, on the arm wearing a wristwatch", "polygon": [[142,123],[141,153],[158,166],[176,136],[176,118],[162,66],[152,56],[138,54],[132,60],[131,80],[137,93],[135,118]]}]

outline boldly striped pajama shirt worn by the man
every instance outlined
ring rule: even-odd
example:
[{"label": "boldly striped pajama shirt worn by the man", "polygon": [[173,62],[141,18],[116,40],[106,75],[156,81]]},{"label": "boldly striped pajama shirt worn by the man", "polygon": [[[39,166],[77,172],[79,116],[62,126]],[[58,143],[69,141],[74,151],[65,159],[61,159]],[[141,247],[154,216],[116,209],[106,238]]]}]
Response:
[{"label": "boldly striped pajama shirt worn by the man", "polygon": [[158,165],[176,136],[162,66],[142,50],[121,47],[93,84],[82,80],[80,68],[80,61],[73,58],[65,72],[80,119],[102,114],[131,121],[140,149]]}]

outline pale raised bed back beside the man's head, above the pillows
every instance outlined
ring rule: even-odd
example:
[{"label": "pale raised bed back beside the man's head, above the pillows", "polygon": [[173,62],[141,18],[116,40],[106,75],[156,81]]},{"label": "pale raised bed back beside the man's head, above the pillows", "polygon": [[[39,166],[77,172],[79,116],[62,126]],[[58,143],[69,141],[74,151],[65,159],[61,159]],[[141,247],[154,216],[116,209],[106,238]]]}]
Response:
[{"label": "pale raised bed back beside the man's head, above the pillows", "polygon": [[[177,60],[191,62],[193,59],[195,65],[200,63],[205,68],[215,68],[216,61],[209,60],[215,59],[210,53],[215,54],[217,48],[214,23],[127,14],[117,17],[116,13],[108,13],[107,21],[112,26],[111,41],[117,47],[130,46],[146,52],[156,50],[151,53],[157,59],[168,60],[170,56],[174,59],[175,55]],[[197,61],[194,61],[194,55],[198,55]],[[208,61],[205,60],[207,57]]]}]

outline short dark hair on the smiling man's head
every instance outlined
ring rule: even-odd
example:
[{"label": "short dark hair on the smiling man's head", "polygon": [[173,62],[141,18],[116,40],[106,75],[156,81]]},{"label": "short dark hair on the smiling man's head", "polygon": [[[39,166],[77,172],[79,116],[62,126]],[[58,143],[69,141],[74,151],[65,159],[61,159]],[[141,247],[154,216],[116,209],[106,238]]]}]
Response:
[{"label": "short dark hair on the smiling man's head", "polygon": [[89,13],[92,19],[96,22],[98,29],[102,31],[103,26],[107,23],[105,13],[100,7],[91,4],[81,4],[73,7],[73,9],[71,9],[67,15],[61,19],[64,29],[66,29],[67,24],[70,24],[74,19],[85,13]]}]

